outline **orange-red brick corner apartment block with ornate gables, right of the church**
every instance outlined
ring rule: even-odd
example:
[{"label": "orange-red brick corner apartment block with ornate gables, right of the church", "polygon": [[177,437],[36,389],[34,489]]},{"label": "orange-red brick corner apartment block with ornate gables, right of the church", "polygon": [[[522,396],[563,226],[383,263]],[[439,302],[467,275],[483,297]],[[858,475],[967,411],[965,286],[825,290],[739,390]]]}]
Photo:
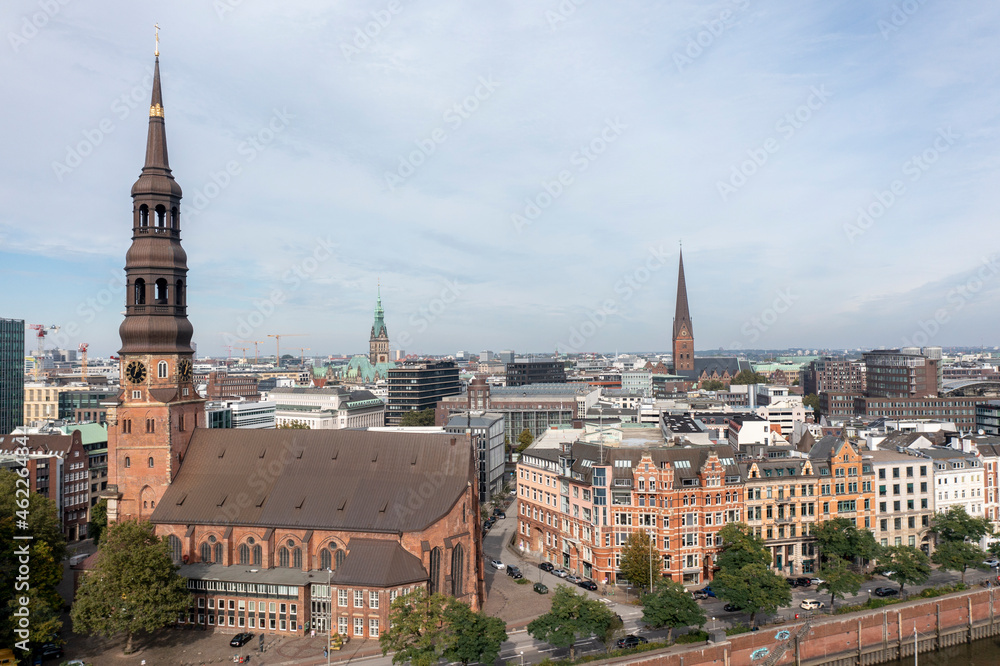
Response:
[{"label": "orange-red brick corner apartment block with ornate gables, right of the church", "polygon": [[744,520],[743,476],[728,446],[529,447],[517,483],[518,548],[600,583],[621,579],[621,551],[636,530],[656,544],[660,575],[711,580],[719,529]]}]

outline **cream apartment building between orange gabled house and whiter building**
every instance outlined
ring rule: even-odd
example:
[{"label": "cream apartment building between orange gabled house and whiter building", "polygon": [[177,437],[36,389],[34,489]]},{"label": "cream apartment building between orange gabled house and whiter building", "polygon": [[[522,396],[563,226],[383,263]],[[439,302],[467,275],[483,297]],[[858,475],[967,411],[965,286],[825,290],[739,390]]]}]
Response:
[{"label": "cream apartment building between orange gabled house and whiter building", "polygon": [[913,546],[930,554],[934,535],[934,465],[913,454],[872,451],[865,454],[878,489],[873,530],[883,546]]}]

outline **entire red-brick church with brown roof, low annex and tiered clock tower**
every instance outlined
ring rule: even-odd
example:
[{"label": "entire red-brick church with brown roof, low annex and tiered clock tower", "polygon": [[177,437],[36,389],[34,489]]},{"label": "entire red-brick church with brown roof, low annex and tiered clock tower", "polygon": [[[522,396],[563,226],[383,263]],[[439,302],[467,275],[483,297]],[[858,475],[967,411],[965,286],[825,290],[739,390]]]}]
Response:
[{"label": "entire red-brick church with brown roof, low annex and tiered clock tower", "polygon": [[362,639],[377,638],[392,599],[414,587],[480,609],[478,475],[468,438],[205,427],[159,57],[132,199],[122,391],[108,413],[104,496],[110,521],[149,520],[168,540],[192,592],[181,621]]}]

